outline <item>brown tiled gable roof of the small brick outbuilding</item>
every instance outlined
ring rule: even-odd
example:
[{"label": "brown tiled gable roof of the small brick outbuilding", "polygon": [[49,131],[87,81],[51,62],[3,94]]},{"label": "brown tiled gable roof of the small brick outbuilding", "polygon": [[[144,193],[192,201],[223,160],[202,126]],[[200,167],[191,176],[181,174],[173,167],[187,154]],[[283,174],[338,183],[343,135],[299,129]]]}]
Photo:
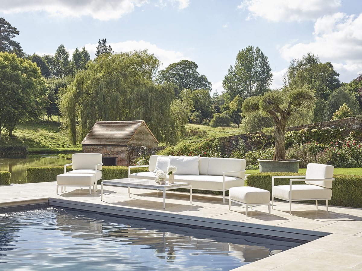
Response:
[{"label": "brown tiled gable roof of the small brick outbuilding", "polygon": [[[127,145],[130,142],[132,136],[142,125],[142,123],[144,123],[143,120],[130,120],[130,121],[97,120],[92,129],[90,129],[90,131],[88,132],[87,136],[84,137],[82,144]],[[144,124],[146,125],[146,123]],[[150,131],[149,128],[148,130]],[[153,136],[151,131],[150,133]]]}]

